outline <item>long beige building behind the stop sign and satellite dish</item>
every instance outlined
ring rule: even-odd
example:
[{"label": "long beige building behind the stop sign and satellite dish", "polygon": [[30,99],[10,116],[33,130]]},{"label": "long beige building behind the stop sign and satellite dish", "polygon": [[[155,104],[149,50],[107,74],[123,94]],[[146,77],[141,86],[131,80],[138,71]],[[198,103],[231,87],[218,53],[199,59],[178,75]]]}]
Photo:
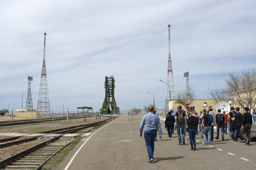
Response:
[{"label": "long beige building behind the stop sign and satellite dish", "polygon": [[[233,99],[230,99],[233,102]],[[230,101],[228,100],[228,101]],[[226,102],[228,102],[226,101]],[[204,107],[204,104],[206,104],[206,107]],[[216,111],[216,104],[217,102],[214,99],[194,99],[192,103],[190,104],[190,110],[195,110],[197,113],[200,113],[203,109],[208,109],[209,106],[212,106],[213,112],[217,113]],[[173,112],[178,111],[178,106],[181,105],[176,101],[176,99],[172,99],[169,101],[169,108],[173,110]],[[183,110],[186,110],[185,106],[181,105]],[[231,107],[234,107],[232,104]]]}]

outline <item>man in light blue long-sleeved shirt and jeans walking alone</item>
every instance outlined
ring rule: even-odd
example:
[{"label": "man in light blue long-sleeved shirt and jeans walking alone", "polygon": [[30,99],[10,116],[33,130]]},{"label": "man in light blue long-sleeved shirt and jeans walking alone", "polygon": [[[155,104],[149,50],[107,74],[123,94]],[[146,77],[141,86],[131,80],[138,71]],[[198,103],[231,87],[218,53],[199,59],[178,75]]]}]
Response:
[{"label": "man in light blue long-sleeved shirt and jeans walking alone", "polygon": [[148,114],[144,115],[140,124],[140,137],[142,137],[142,131],[145,126],[144,139],[146,141],[146,147],[148,151],[148,163],[154,161],[154,143],[157,135],[157,129],[162,140],[162,128],[160,120],[157,115],[154,114],[154,107],[148,108]]}]

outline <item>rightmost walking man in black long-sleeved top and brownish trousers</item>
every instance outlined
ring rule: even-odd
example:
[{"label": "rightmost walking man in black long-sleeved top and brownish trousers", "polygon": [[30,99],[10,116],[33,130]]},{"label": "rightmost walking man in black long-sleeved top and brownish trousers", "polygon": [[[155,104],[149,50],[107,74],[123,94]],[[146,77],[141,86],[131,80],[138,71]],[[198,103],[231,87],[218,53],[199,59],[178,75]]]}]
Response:
[{"label": "rightmost walking man in black long-sleeved top and brownish trousers", "polygon": [[[245,107],[244,108],[245,113],[243,113],[243,122],[242,122],[242,135],[243,138],[245,139],[245,145],[250,145],[250,133],[251,133],[251,124],[252,124],[252,116],[251,113],[249,113],[249,108]],[[245,135],[246,133],[246,135]]]}]

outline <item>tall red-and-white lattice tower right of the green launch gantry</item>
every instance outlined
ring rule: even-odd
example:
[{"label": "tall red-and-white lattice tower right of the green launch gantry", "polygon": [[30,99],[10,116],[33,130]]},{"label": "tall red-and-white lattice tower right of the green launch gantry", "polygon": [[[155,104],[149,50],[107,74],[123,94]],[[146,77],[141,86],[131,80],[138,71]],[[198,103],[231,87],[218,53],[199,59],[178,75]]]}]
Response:
[{"label": "tall red-and-white lattice tower right of the green launch gantry", "polygon": [[169,100],[175,99],[173,75],[172,75],[172,59],[171,59],[171,39],[170,39],[170,24],[168,24],[169,29],[169,59],[168,59],[168,71],[167,71],[167,85],[166,85],[166,100],[165,109],[169,108]]}]

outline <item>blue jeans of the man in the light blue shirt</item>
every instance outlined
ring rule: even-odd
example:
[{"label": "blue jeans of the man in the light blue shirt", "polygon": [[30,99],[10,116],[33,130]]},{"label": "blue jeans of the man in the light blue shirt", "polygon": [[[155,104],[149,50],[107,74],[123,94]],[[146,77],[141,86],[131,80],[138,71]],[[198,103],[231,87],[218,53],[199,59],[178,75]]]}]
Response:
[{"label": "blue jeans of the man in the light blue shirt", "polygon": [[144,138],[146,141],[146,147],[147,147],[149,158],[154,155],[156,135],[157,135],[156,130],[146,130],[144,132]]}]

